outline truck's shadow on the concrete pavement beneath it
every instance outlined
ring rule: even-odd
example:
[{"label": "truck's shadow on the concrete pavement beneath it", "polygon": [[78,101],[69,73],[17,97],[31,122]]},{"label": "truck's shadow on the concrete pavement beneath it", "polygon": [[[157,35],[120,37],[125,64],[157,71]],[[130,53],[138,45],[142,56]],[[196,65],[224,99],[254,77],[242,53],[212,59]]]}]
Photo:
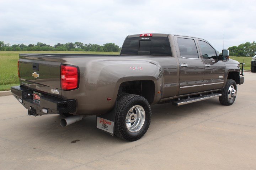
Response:
[{"label": "truck's shadow on the concrete pavement beneath it", "polygon": [[[214,111],[208,111],[208,109],[213,106],[215,106],[216,109]],[[179,107],[172,106],[171,103],[155,104],[152,106],[151,124],[145,136],[155,136],[154,131],[166,128],[170,124],[185,123],[184,119],[187,121],[193,121],[193,119],[203,121],[218,116],[223,113],[218,111],[221,107],[222,105],[220,105],[219,101],[216,99],[186,104]],[[68,142],[70,145],[86,145],[86,143],[90,143],[91,145],[92,142],[96,144],[102,143],[102,141],[104,141],[104,143],[126,143],[126,141],[116,136],[111,136],[97,129],[96,116],[86,117],[64,128],[59,125],[61,118],[63,118],[63,116],[60,115],[38,116],[33,123],[36,124],[36,127],[30,129],[30,132],[33,131],[34,134],[41,134],[44,136],[43,140]],[[33,122],[33,120],[30,122]]]}]

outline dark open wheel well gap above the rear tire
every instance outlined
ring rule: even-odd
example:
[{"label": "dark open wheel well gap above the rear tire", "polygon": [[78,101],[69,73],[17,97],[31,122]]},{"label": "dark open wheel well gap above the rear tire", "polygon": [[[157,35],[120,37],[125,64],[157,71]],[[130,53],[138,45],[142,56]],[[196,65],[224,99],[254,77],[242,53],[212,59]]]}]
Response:
[{"label": "dark open wheel well gap above the rear tire", "polygon": [[152,80],[126,81],[120,85],[120,92],[143,96],[151,104],[155,97],[155,83]]}]

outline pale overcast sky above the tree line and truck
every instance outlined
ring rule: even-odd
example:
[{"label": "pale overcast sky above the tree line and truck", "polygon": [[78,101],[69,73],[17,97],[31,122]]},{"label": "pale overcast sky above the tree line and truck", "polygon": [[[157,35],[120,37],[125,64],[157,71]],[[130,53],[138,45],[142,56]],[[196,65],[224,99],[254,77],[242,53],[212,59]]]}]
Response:
[{"label": "pale overcast sky above the tree line and truck", "polygon": [[127,35],[172,33],[218,51],[256,41],[256,0],[0,0],[0,41],[122,46]]}]

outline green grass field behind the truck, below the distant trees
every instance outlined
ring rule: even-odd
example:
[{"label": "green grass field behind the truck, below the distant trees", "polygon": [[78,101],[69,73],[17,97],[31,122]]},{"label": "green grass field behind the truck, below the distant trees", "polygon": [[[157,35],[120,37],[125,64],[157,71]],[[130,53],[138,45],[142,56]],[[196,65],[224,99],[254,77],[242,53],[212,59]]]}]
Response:
[{"label": "green grass field behind the truck, below the distant trees", "polygon": [[[17,61],[20,53],[83,53],[118,55],[119,52],[93,51],[0,51],[0,91],[10,90],[11,86],[18,85]],[[251,57],[230,57],[240,63],[244,61],[245,69],[251,67]]]}]

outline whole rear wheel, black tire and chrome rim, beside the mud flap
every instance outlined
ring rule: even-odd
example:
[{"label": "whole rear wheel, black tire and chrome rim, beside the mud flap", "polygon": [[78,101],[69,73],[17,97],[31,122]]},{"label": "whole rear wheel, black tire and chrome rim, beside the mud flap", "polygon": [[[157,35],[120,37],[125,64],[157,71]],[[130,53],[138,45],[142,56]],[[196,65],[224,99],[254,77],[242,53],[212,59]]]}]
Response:
[{"label": "whole rear wheel, black tire and chrome rim, beside the mud flap", "polygon": [[115,135],[127,141],[136,141],[149,128],[151,108],[149,102],[139,95],[125,95],[118,99]]}]

